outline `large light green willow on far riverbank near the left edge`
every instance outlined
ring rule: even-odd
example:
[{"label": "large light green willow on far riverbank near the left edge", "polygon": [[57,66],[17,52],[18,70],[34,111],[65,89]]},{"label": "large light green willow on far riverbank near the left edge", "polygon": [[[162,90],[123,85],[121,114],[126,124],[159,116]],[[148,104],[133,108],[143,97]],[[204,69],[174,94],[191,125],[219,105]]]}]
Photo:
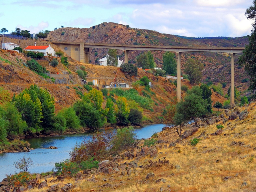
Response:
[{"label": "large light green willow on far riverbank near the left edge", "polygon": [[0,117],[8,121],[6,127],[8,136],[20,136],[27,130],[27,123],[22,120],[22,116],[15,106],[9,102],[0,106]]}]

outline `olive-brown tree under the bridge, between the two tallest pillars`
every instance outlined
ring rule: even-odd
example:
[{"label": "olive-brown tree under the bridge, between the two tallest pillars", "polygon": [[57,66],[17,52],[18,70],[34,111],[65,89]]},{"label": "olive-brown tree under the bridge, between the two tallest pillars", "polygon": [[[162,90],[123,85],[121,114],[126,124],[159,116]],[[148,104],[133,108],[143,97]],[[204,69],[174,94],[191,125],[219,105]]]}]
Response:
[{"label": "olive-brown tree under the bridge, between the two tallest pillars", "polygon": [[204,65],[195,59],[188,58],[184,64],[184,73],[188,75],[191,84],[197,84],[201,81],[203,69]]}]

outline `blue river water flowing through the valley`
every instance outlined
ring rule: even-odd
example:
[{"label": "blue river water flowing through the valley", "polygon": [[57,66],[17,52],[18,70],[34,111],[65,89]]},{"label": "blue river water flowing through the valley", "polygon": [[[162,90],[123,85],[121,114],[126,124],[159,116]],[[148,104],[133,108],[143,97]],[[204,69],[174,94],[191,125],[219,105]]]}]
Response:
[{"label": "blue river water flowing through the valley", "polygon": [[[162,131],[164,124],[146,125],[135,129],[138,139],[149,138],[155,132]],[[72,134],[56,137],[30,138],[27,141],[31,144],[30,152],[3,153],[0,154],[0,182],[5,178],[5,174],[14,174],[19,170],[14,168],[14,162],[26,155],[30,157],[34,165],[29,168],[30,173],[42,173],[52,170],[56,162],[68,159],[71,148],[80,143],[84,138],[90,138],[90,133]],[[43,149],[49,146],[56,146],[58,149]]]}]

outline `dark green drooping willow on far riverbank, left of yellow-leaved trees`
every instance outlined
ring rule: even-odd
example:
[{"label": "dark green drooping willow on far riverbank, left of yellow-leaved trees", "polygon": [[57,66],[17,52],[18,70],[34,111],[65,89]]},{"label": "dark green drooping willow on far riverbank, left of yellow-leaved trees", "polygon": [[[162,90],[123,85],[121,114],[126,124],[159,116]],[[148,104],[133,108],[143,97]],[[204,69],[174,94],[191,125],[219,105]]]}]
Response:
[{"label": "dark green drooping willow on far riverbank, left of yellow-leaved trees", "polygon": [[102,127],[103,123],[100,112],[95,110],[91,104],[86,103],[85,101],[77,101],[73,107],[82,126],[93,130]]}]

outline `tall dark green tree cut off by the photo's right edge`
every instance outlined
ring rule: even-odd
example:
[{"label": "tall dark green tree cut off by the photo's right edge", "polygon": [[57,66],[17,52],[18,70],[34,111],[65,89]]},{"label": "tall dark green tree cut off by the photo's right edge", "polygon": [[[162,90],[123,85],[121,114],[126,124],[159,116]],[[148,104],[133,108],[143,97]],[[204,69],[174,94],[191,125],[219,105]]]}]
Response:
[{"label": "tall dark green tree cut off by the photo's right edge", "polygon": [[252,34],[248,35],[249,44],[245,45],[243,54],[239,57],[239,64],[245,64],[244,69],[250,76],[250,90],[256,89],[256,0],[253,0],[253,5],[246,9],[245,15],[247,19],[253,20]]}]

